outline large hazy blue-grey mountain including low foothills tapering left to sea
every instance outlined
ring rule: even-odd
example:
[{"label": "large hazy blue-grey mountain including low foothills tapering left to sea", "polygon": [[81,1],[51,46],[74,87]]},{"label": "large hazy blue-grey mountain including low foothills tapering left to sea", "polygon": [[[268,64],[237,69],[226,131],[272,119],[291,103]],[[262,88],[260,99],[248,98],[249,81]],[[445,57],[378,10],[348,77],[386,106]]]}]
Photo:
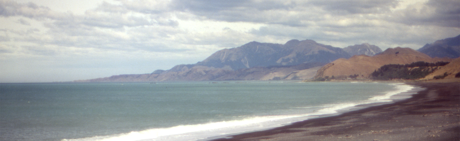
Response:
[{"label": "large hazy blue-grey mountain including low foothills tapering left to sea", "polygon": [[75,82],[304,80],[315,76],[319,66],[350,57],[342,48],[313,40],[291,40],[285,44],[252,41],[219,50],[196,64],[176,65],[166,71]]}]

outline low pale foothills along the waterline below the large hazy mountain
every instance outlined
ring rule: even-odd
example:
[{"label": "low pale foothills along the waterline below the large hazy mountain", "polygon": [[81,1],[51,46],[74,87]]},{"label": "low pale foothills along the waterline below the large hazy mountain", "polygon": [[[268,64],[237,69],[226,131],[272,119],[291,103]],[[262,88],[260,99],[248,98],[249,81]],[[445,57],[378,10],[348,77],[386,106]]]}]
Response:
[{"label": "low pale foothills along the waterline below the large hazy mountain", "polygon": [[305,80],[316,75],[324,65],[309,63],[293,66],[252,67],[236,71],[202,65],[176,65],[161,74],[127,74],[74,82],[156,82],[156,81],[224,81],[224,80]]}]

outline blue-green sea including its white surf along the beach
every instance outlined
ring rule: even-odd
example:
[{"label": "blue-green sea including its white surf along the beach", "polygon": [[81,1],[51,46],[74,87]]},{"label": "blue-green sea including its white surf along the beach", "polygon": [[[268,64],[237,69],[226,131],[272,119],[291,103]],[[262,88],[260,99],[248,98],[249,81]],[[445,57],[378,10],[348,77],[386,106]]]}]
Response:
[{"label": "blue-green sea including its white surf along the beach", "polygon": [[410,97],[377,82],[1,83],[1,141],[206,141]]}]

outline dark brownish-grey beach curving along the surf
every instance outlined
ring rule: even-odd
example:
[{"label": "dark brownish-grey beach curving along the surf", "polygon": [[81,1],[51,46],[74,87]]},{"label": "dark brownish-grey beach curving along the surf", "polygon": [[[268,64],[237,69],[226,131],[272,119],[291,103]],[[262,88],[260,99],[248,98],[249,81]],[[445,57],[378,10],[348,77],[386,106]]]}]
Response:
[{"label": "dark brownish-grey beach curving along the surf", "polygon": [[413,97],[212,141],[460,141],[460,83],[409,83]]}]

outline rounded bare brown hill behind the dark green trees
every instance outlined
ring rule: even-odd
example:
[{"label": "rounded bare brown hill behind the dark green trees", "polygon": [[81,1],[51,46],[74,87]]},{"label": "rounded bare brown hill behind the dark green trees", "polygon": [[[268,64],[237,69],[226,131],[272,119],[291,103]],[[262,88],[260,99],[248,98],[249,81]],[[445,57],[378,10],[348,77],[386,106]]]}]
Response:
[{"label": "rounded bare brown hill behind the dark green trees", "polygon": [[355,55],[350,59],[337,59],[317,71],[315,78],[332,77],[347,78],[350,75],[359,75],[359,79],[368,79],[370,74],[387,64],[410,64],[418,61],[436,63],[438,61],[450,62],[453,59],[431,58],[411,48],[388,48],[374,56]]}]

